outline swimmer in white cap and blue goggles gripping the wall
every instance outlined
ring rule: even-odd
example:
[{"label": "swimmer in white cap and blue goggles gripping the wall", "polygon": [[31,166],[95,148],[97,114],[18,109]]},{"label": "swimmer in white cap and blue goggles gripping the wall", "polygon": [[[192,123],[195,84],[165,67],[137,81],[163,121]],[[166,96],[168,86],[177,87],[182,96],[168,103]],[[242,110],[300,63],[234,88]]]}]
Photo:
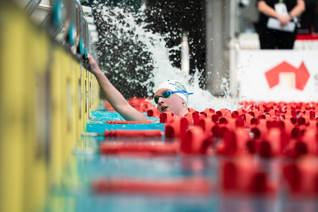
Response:
[{"label": "swimmer in white cap and blue goggles gripping the wall", "polygon": [[[142,113],[130,106],[121,93],[110,83],[107,77],[98,67],[94,58],[88,55],[88,64],[95,75],[104,96],[115,111],[127,121],[149,121]],[[186,87],[177,80],[168,80],[161,83],[155,92],[154,100],[162,112],[171,112],[178,117],[188,113],[188,93]]]}]

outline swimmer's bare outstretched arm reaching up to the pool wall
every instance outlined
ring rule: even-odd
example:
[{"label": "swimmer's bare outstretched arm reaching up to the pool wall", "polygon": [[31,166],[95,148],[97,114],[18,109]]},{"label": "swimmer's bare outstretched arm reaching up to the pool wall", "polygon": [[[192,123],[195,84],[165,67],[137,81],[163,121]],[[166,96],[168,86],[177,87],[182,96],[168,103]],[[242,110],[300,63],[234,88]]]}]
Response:
[{"label": "swimmer's bare outstretched arm reaching up to the pool wall", "polygon": [[102,92],[115,111],[127,121],[148,121],[145,116],[128,104],[121,93],[109,82],[90,54],[88,54],[88,61],[91,72],[95,75]]}]

